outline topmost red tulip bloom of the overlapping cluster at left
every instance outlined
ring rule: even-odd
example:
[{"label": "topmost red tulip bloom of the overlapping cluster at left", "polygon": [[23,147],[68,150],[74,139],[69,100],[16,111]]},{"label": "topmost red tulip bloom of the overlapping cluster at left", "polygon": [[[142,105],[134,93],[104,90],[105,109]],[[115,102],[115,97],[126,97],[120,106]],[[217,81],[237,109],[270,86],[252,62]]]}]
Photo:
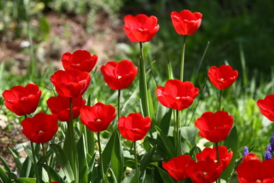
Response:
[{"label": "topmost red tulip bloom of the overlapping cluster at left", "polygon": [[66,71],[77,69],[79,71],[86,71],[89,73],[95,66],[97,60],[97,55],[91,56],[86,50],[77,50],[72,54],[66,52],[62,56],[62,64],[64,66],[64,70]]}]

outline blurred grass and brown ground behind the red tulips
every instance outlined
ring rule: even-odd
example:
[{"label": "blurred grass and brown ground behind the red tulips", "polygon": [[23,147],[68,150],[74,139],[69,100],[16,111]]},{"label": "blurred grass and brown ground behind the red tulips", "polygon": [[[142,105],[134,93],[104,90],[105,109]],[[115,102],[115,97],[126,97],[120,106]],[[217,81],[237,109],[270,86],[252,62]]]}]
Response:
[{"label": "blurred grass and brown ground behind the red tulips", "polygon": [[[249,145],[262,155],[274,132],[256,106],[258,99],[274,93],[273,0],[0,0],[0,92],[34,82],[43,93],[38,111],[49,112],[45,104],[53,95],[49,77],[62,68],[63,53],[86,49],[99,57],[97,66],[124,59],[137,65],[138,44],[123,32],[123,17],[144,13],[157,16],[160,25],[144,49],[152,72],[148,79],[153,103],[163,109],[153,91],[166,82],[167,63],[171,62],[175,77],[179,76],[183,37],[173,29],[170,14],[184,9],[203,14],[197,33],[186,39],[185,78],[201,90],[201,100],[193,104],[197,107],[190,109],[196,111],[195,116],[186,113],[186,120],[215,110],[217,91],[205,80],[207,71],[209,66],[229,63],[240,73],[236,84],[225,90],[223,101],[242,132],[238,154]],[[101,86],[101,81],[101,75],[92,75],[92,86]],[[139,102],[137,88],[136,81],[122,99],[127,101],[122,110],[140,110],[134,105]],[[107,86],[90,87],[88,93],[99,101],[116,103],[116,93]],[[3,106],[2,97],[0,103],[1,155],[10,145],[25,140],[20,119]],[[162,114],[155,114],[155,120]]]}]

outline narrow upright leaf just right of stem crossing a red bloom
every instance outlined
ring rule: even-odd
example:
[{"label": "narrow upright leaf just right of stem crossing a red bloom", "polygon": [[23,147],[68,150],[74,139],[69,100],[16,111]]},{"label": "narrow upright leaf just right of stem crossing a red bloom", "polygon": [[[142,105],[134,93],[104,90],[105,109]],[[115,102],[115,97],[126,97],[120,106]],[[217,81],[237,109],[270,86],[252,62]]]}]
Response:
[{"label": "narrow upright leaf just right of stem crossing a red bloom", "polygon": [[78,161],[79,161],[79,182],[88,182],[88,162],[86,160],[86,146],[84,145],[84,136],[82,135],[77,143]]}]

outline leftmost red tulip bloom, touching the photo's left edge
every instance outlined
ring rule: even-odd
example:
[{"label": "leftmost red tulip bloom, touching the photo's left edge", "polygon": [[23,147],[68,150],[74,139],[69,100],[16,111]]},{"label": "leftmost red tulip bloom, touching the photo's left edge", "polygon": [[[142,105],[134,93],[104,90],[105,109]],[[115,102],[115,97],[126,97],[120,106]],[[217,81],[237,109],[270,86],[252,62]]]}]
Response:
[{"label": "leftmost red tulip bloom, touching the photo's left edge", "polygon": [[3,92],[5,106],[18,116],[31,114],[38,106],[41,90],[36,84],[27,86],[14,86],[10,90]]}]

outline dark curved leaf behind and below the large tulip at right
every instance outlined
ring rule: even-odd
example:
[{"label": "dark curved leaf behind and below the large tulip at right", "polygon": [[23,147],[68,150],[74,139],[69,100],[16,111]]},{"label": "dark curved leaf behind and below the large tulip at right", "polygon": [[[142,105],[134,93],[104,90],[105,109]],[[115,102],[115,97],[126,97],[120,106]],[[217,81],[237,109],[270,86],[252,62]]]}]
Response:
[{"label": "dark curved leaf behind and below the large tulip at right", "polygon": [[229,136],[225,139],[224,146],[227,147],[227,149],[232,149],[233,151],[232,160],[230,161],[229,165],[221,175],[222,179],[228,180],[229,177],[232,175],[232,171],[234,170],[235,160],[238,154],[238,132],[236,126],[232,128],[232,130],[229,133]]}]

